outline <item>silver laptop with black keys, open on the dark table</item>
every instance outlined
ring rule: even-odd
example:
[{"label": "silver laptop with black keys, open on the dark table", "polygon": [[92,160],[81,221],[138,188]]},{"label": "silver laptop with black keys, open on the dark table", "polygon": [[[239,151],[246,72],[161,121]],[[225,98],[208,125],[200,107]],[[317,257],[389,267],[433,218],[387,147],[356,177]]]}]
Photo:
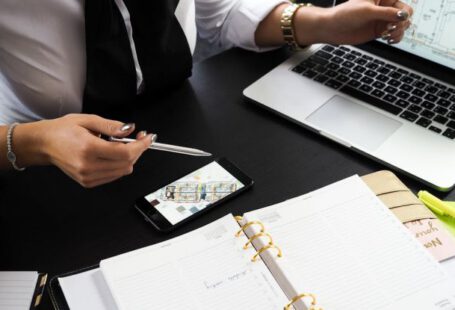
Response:
[{"label": "silver laptop with black keys, open on the dark table", "polygon": [[[451,5],[442,3],[446,7],[430,0],[413,4],[414,26],[394,47],[373,42],[367,52],[314,45],[250,85],[244,96],[448,191],[455,185],[455,85],[391,61],[394,54],[405,56],[408,63],[415,59],[453,73],[455,80],[455,18],[449,18]],[[389,56],[381,57],[382,51]]]}]

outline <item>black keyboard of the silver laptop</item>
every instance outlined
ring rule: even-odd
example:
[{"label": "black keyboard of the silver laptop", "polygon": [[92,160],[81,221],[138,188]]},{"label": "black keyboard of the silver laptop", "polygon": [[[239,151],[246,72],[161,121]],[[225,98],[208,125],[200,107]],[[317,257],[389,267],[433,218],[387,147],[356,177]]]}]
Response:
[{"label": "black keyboard of the silver laptop", "polygon": [[292,71],[455,138],[455,89],[345,46],[325,45]]}]

